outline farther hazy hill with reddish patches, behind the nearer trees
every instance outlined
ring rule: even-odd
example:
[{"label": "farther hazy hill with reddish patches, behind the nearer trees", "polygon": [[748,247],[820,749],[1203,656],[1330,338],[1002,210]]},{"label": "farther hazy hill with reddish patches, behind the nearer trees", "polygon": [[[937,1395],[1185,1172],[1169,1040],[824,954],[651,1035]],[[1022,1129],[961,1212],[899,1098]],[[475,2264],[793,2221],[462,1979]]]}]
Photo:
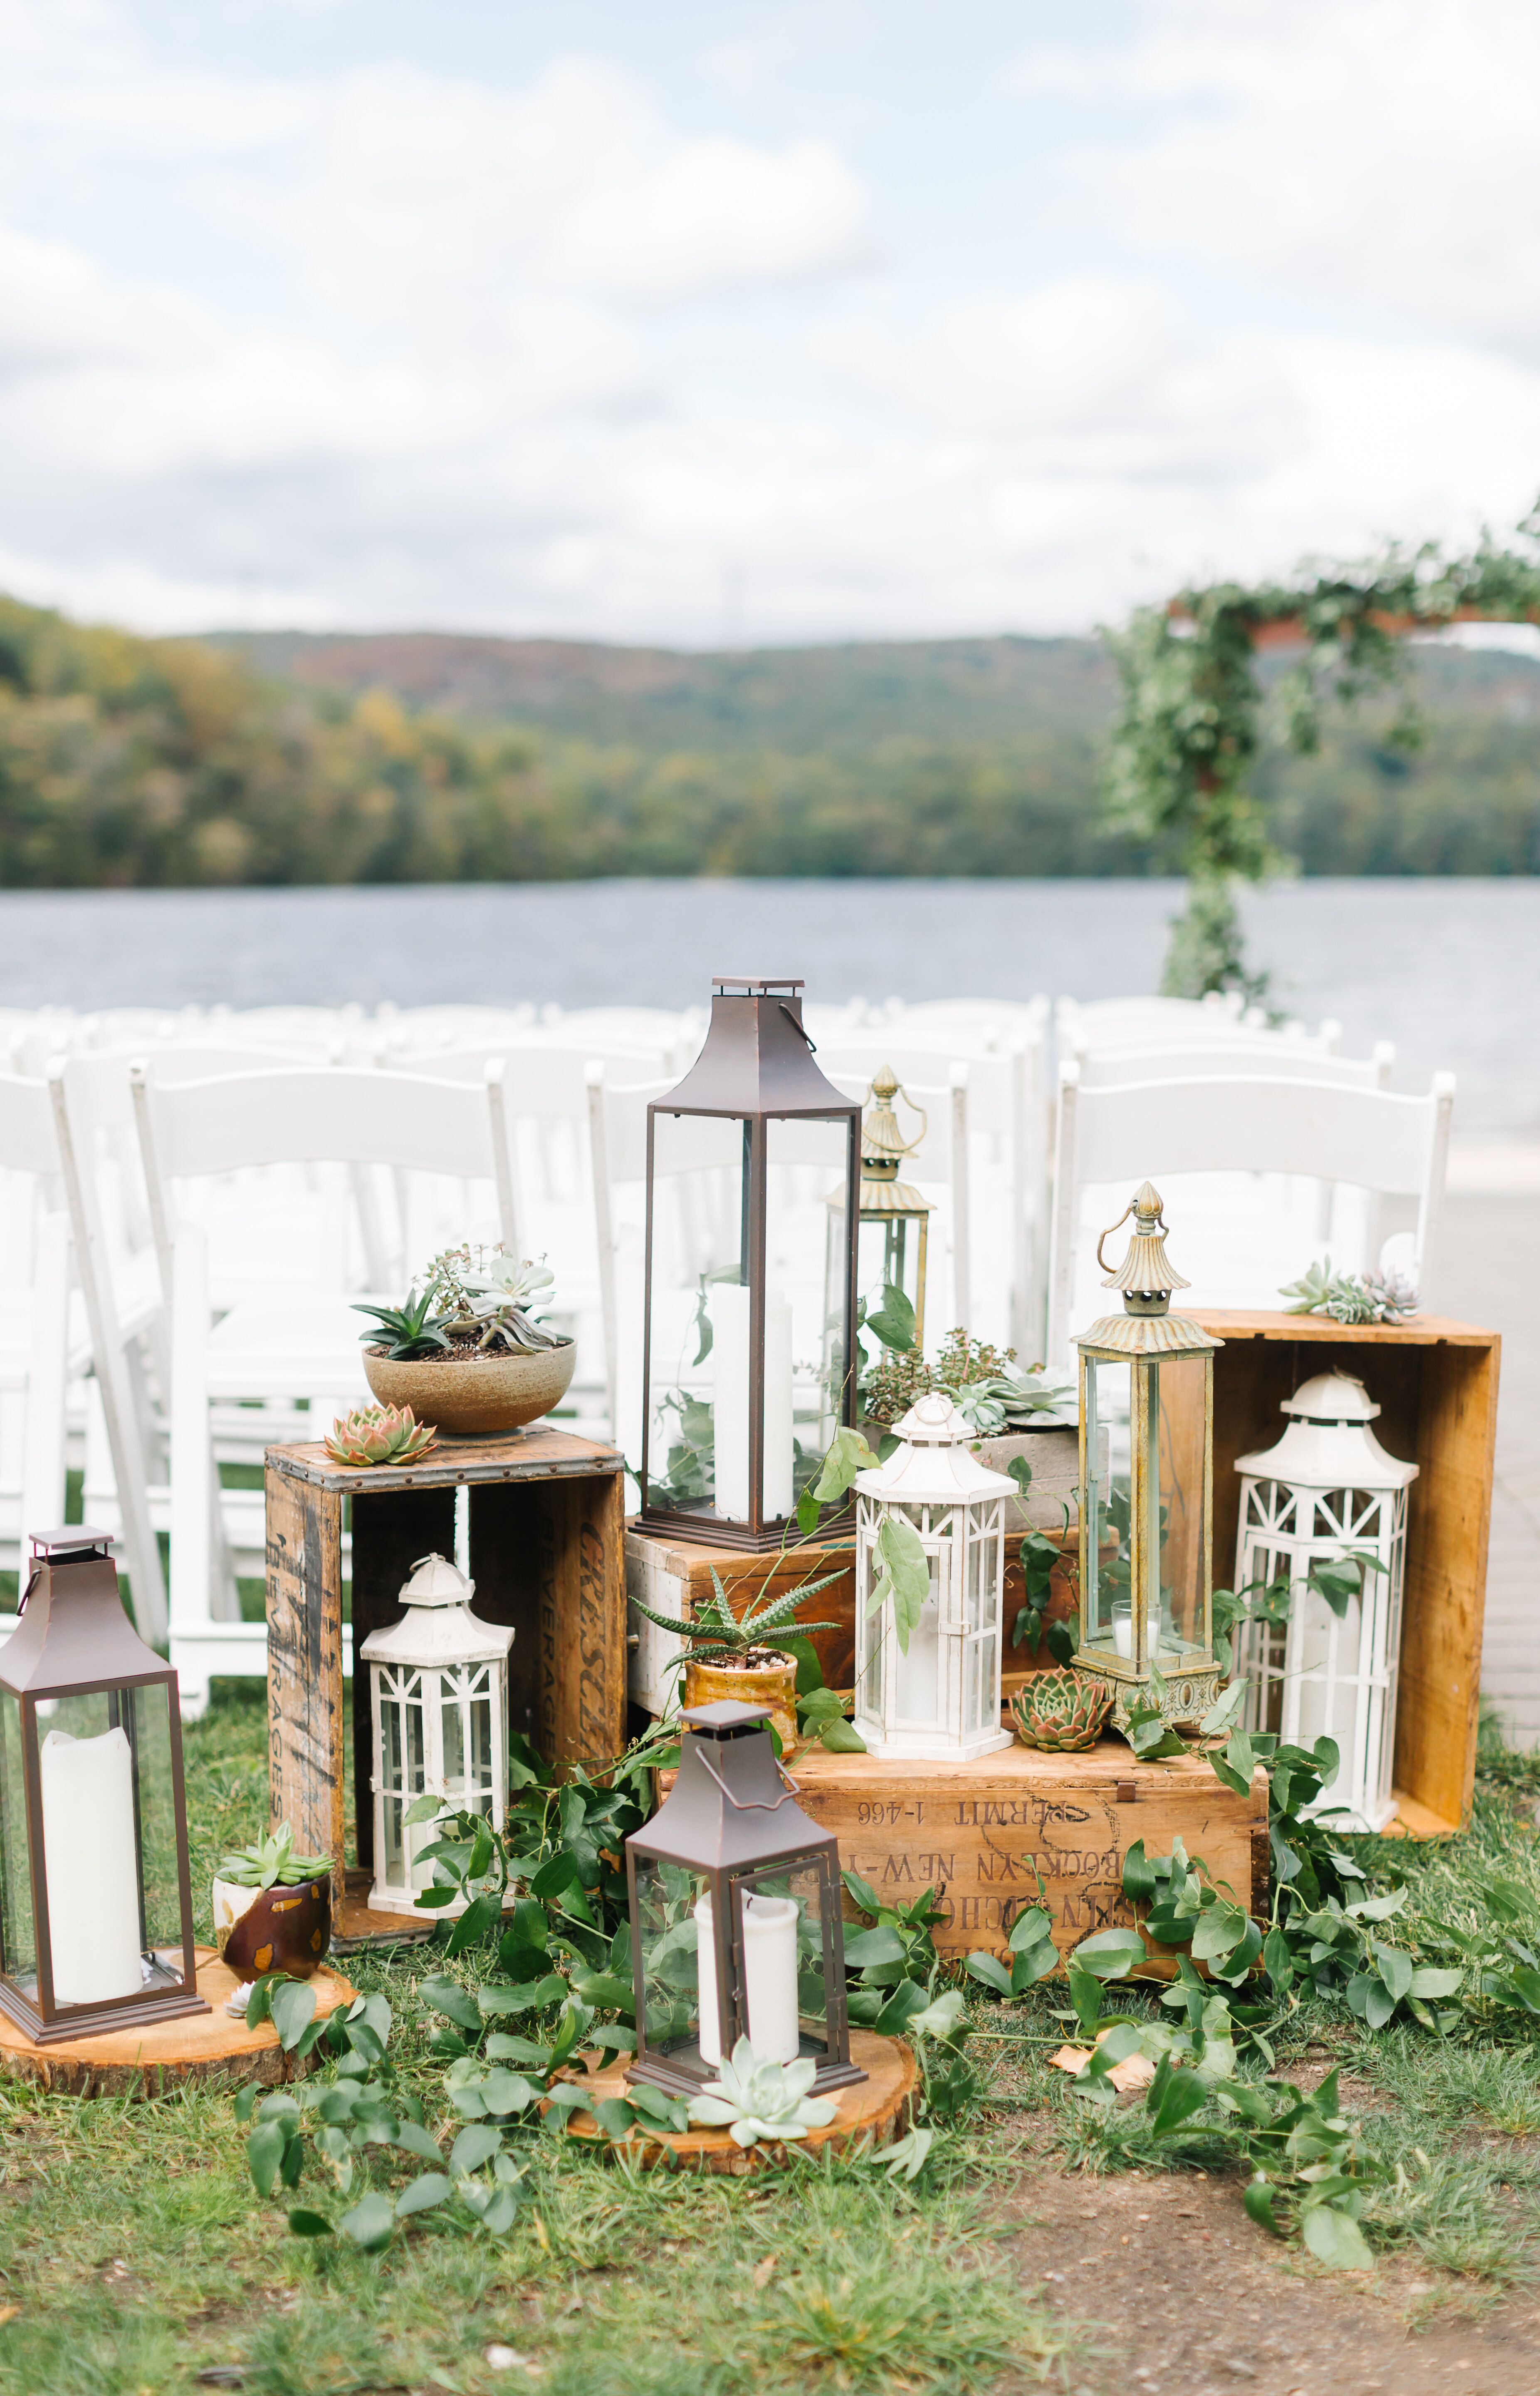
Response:
[{"label": "farther hazy hill with reddish patches, behind the nearer trees", "polygon": [[259,673],[386,688],[417,709],[668,750],[853,752],[879,740],[1099,736],[1116,702],[1095,640],[867,640],[824,649],[623,649],[460,633],[206,633]]}]

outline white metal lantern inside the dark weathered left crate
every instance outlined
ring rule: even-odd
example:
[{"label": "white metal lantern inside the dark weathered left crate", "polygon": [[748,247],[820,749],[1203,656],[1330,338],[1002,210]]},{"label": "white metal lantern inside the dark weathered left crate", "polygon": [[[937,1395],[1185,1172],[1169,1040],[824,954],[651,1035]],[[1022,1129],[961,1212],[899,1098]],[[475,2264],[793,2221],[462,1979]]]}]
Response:
[{"label": "white metal lantern inside the dark weathered left crate", "polygon": [[[467,1581],[443,1555],[424,1555],[400,1591],[407,1613],[359,1648],[374,1713],[374,1888],[369,1905],[414,1914],[433,1866],[417,1862],[438,1833],[407,1823],[417,1797],[443,1797],[503,1828],[508,1792],[508,1648],[513,1629],[481,1622]],[[465,1912],[467,1900],[445,1905]],[[422,1917],[419,1917],[422,1919]]]}]

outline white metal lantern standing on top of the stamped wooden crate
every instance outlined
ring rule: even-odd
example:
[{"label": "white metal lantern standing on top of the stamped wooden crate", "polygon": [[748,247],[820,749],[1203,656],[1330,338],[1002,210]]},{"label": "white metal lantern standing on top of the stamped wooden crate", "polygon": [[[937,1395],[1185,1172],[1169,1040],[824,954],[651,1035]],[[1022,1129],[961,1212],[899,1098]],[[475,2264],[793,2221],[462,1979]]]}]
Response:
[{"label": "white metal lantern standing on top of the stamped wooden crate", "polygon": [[[893,1428],[889,1462],[855,1476],[855,1728],[877,1756],[968,1763],[1011,1744],[1001,1730],[1001,1615],[1015,1481],[980,1464],[975,1430],[939,1392],[915,1399]],[[908,1653],[893,1601],[867,1613],[889,1514],[915,1526],[929,1560]]]}]

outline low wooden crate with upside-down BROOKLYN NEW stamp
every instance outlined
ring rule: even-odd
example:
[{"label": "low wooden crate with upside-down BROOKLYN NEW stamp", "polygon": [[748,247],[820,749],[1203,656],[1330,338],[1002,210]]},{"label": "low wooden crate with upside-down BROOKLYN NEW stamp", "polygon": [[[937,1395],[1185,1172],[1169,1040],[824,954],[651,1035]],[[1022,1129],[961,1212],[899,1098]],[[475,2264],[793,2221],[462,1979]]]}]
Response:
[{"label": "low wooden crate with upside-down BROOKLYN NEW stamp", "polygon": [[[1169,1855],[1181,1838],[1248,1912],[1267,1910],[1267,1775],[1236,1797],[1205,1756],[1140,1763],[1121,1739],[1078,1756],[1004,1747],[975,1763],[884,1763],[800,1749],[798,1802],[841,1843],[841,1864],[879,1898],[934,1888],[944,1955],[1006,1953],[1018,1912],[1047,1902],[1059,1953],[1133,1922],[1123,1857],[1135,1840]],[[1171,1965],[1174,1970],[1174,1965]]]}]

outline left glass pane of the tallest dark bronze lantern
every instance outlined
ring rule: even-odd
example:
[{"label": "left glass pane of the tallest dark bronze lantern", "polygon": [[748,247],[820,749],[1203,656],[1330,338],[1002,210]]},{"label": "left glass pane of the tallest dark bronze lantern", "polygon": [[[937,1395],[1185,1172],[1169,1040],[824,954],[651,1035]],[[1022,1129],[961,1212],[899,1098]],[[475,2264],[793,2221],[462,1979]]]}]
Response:
[{"label": "left glass pane of the tallest dark bronze lantern", "polygon": [[654,1114],[651,1138],[647,1502],[742,1519],[750,1126],[735,1117]]}]

